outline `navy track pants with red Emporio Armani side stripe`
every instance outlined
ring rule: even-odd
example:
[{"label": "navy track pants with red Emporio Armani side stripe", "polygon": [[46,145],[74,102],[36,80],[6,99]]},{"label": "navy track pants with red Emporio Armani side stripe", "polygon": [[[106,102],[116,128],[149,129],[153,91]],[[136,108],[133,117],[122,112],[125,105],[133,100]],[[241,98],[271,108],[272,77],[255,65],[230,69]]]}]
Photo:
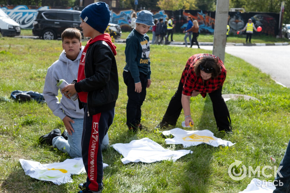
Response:
[{"label": "navy track pants with red Emporio Armani side stripe", "polygon": [[88,174],[86,185],[90,190],[99,191],[103,188],[102,142],[113,123],[115,108],[88,116],[88,106],[84,103],[84,112],[81,155]]}]

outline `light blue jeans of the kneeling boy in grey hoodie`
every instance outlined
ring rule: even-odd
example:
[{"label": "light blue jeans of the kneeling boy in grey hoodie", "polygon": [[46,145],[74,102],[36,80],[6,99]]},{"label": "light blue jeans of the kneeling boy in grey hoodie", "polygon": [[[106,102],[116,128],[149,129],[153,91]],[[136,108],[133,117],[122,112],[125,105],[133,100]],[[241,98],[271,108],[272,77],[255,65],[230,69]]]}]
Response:
[{"label": "light blue jeans of the kneeling boy in grey hoodie", "polygon": [[[57,136],[52,139],[53,147],[58,150],[67,153],[71,158],[81,157],[81,135],[83,133],[84,119],[82,118],[72,118],[75,123],[70,123],[75,132],[72,135],[68,134],[68,140],[64,139],[62,136]],[[105,143],[105,144],[104,144]],[[108,133],[104,137],[102,150],[108,148],[109,137]]]}]

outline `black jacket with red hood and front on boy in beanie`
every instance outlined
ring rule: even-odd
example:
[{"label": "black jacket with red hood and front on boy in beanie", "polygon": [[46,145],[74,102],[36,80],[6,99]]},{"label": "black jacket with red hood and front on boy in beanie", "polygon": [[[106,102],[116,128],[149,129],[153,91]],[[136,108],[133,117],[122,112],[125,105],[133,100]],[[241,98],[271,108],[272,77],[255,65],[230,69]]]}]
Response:
[{"label": "black jacket with red hood and front on boy in beanie", "polygon": [[[78,80],[75,83],[79,100],[88,104],[90,115],[115,107],[119,93],[115,45],[110,42],[109,45],[102,40],[92,41],[88,41],[88,48],[83,52],[83,72],[80,76],[81,59]],[[82,103],[79,106],[83,108]]]}]

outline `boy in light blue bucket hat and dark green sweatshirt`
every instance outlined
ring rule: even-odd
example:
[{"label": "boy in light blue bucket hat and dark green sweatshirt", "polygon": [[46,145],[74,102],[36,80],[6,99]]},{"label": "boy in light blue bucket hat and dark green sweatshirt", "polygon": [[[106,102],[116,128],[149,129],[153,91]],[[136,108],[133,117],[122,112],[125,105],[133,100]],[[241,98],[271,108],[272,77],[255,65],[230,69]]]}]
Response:
[{"label": "boy in light blue bucket hat and dark green sweatshirt", "polygon": [[135,22],[136,27],[126,39],[126,66],[123,71],[128,95],[126,124],[133,132],[142,129],[141,106],[146,97],[146,88],[151,85],[150,44],[146,32],[155,26],[153,14],[147,10],[140,11]]}]

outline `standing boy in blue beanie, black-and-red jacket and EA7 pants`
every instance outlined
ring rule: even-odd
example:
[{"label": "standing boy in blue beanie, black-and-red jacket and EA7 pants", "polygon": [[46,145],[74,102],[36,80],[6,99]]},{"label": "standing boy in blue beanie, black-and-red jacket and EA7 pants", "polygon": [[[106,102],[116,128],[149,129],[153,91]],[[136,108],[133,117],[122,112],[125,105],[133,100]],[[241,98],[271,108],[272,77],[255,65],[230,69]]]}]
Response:
[{"label": "standing boy in blue beanie, black-and-red jacket and EA7 pants", "polygon": [[68,97],[78,92],[79,106],[84,108],[81,153],[88,174],[79,191],[101,193],[103,189],[102,141],[113,123],[119,82],[115,60],[116,46],[104,34],[111,12],[104,2],[90,4],[81,12],[83,34],[91,37],[79,63],[77,83],[62,89]]}]

